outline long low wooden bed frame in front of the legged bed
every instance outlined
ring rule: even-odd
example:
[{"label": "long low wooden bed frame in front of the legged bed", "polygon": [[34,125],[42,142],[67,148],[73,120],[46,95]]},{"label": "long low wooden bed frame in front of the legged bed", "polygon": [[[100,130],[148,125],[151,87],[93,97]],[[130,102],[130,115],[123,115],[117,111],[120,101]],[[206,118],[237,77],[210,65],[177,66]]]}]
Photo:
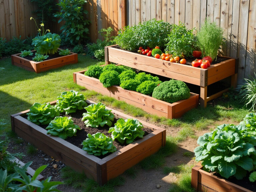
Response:
[{"label": "long low wooden bed frame in front of the legged bed", "polygon": [[105,88],[99,79],[85,76],[84,72],[85,71],[79,71],[73,73],[75,83],[85,87],[86,89],[94,90],[118,100],[123,100],[131,105],[140,107],[151,114],[173,119],[181,117],[185,112],[198,105],[198,94],[191,93],[189,99],[180,100],[175,103],[167,103],[136,91],[123,89],[117,85]]}]

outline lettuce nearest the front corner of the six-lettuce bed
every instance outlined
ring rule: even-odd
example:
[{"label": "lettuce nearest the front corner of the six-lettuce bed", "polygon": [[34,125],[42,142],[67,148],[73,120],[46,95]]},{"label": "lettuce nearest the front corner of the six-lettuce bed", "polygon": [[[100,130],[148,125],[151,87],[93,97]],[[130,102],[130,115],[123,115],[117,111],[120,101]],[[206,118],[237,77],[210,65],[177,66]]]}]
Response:
[{"label": "lettuce nearest the front corner of the six-lettuce bed", "polygon": [[86,140],[82,142],[83,150],[90,155],[100,156],[116,151],[111,138],[103,133],[87,134]]}]

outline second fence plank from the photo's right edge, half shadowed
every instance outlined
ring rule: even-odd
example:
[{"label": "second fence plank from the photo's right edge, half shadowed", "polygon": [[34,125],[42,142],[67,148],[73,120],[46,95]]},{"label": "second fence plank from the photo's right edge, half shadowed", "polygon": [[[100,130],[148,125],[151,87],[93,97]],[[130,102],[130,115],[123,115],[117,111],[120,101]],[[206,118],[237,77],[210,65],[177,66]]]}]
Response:
[{"label": "second fence plank from the photo's right edge, half shadowed", "polygon": [[249,0],[240,1],[240,14],[239,14],[239,29],[238,29],[238,49],[237,54],[239,57],[238,84],[243,82],[244,69],[245,69],[245,58],[246,58],[246,44],[247,44],[247,29],[248,29],[248,11],[249,11]]}]

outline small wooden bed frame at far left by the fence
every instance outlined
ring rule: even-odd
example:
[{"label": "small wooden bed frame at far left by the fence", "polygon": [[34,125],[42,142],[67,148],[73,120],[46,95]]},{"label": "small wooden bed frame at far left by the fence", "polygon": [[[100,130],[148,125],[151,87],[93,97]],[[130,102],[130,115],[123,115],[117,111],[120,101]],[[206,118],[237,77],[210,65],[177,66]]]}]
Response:
[{"label": "small wooden bed frame at far left by the fence", "polygon": [[[58,50],[61,50],[61,49],[58,49]],[[35,51],[32,51],[32,52],[35,52]],[[62,67],[64,65],[78,62],[77,53],[73,53],[73,52],[71,52],[70,55],[64,55],[61,57],[57,57],[54,59],[49,59],[41,62],[35,62],[32,60],[25,59],[23,57],[20,57],[19,56],[20,54],[21,53],[11,55],[12,64],[36,73],[40,73],[42,71],[47,71],[49,69],[55,69],[55,68]]]}]

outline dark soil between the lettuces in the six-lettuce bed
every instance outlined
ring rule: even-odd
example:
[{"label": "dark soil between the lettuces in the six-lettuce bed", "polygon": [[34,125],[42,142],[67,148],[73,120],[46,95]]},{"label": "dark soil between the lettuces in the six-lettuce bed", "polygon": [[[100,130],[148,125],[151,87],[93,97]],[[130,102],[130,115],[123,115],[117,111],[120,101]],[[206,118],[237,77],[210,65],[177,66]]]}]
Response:
[{"label": "dark soil between the lettuces in the six-lettuce bed", "polygon": [[[82,118],[83,118],[83,113],[85,113],[86,110],[83,109],[83,110],[77,110],[76,113],[70,113],[68,115],[65,115],[65,113],[61,113],[60,116],[66,116],[66,117],[72,117],[72,120],[74,121],[74,124],[78,125],[81,130],[77,130],[77,133],[76,133],[76,136],[73,136],[73,137],[68,137],[66,139],[66,141],[68,141],[69,143],[79,147],[79,148],[83,148],[83,145],[82,145],[82,142],[87,138],[87,134],[95,134],[97,132],[100,132],[100,133],[104,133],[104,135],[108,136],[111,138],[111,134],[108,133],[108,130],[109,130],[109,126],[108,125],[105,125],[103,127],[98,127],[98,128],[92,128],[92,127],[86,127],[85,124],[84,124],[84,121],[82,121]],[[27,118],[27,117],[25,117]],[[116,123],[116,121],[118,120],[118,118],[114,118],[114,121],[112,122],[112,127],[114,127],[114,124]],[[46,128],[48,125],[41,125],[42,128]],[[142,129],[145,134],[144,136],[148,135],[149,133],[152,133],[153,131],[149,128],[143,128]],[[138,140],[140,138],[137,138],[135,140]],[[119,143],[118,141],[113,141],[113,144],[114,146],[117,148],[117,150],[125,147],[127,144],[121,144]],[[99,157],[100,159],[108,156],[109,154],[111,153],[107,153],[106,155],[102,155],[102,156],[97,156]]]}]

